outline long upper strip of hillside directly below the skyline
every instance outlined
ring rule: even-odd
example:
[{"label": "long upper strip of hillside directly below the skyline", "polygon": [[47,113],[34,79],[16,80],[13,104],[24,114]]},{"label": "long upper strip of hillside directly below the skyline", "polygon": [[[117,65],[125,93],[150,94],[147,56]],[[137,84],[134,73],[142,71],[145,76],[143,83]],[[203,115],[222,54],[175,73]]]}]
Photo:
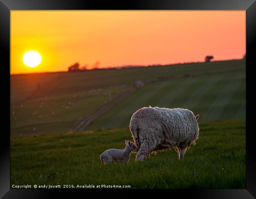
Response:
[{"label": "long upper strip of hillside directly below the skyline", "polygon": [[13,75],[11,76],[11,95],[13,99],[26,97],[28,90],[32,91],[37,88],[37,82],[41,83],[42,88],[34,96],[49,97],[52,95],[58,96],[81,92],[93,88],[108,88],[110,86],[130,84],[136,80],[147,82],[156,80],[158,77],[227,73],[241,70],[245,70],[244,59],[151,68]]}]

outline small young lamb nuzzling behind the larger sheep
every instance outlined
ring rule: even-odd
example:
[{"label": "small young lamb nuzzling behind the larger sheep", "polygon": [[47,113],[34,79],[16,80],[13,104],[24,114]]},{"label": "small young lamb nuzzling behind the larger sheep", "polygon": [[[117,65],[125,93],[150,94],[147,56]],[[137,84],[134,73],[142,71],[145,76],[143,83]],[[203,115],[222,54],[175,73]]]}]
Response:
[{"label": "small young lamb nuzzling behind the larger sheep", "polygon": [[128,162],[130,160],[131,152],[136,153],[137,147],[130,140],[125,140],[124,149],[108,149],[100,155],[102,163],[106,164],[109,162]]}]

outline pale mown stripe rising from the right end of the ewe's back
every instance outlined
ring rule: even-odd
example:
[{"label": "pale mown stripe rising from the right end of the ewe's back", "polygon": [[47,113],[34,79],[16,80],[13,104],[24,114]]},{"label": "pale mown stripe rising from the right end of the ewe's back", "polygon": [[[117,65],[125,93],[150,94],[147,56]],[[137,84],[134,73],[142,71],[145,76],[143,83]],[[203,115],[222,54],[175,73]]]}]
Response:
[{"label": "pale mown stripe rising from the right end of the ewe's back", "polygon": [[213,75],[206,82],[204,82],[200,87],[195,90],[195,92],[187,99],[187,101],[182,105],[186,109],[193,109],[200,103],[201,98],[207,93],[209,89],[215,86],[219,80],[223,78],[223,75]]}]

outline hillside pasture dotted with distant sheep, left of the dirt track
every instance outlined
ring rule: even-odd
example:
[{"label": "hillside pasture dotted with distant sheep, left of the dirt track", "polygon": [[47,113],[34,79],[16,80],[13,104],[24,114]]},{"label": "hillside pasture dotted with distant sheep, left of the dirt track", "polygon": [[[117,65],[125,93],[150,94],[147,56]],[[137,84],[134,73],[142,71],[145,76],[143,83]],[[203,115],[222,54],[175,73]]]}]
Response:
[{"label": "hillside pasture dotted with distant sheep, left of the dirt track", "polygon": [[78,120],[98,109],[127,87],[31,99],[11,106],[11,135],[67,132]]}]

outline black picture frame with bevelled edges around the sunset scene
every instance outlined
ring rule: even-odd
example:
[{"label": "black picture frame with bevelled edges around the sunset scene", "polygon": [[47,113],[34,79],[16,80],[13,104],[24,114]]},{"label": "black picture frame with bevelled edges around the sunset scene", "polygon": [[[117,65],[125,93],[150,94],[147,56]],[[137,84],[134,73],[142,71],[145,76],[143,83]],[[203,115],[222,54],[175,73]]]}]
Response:
[{"label": "black picture frame with bevelled edges around the sunset scene", "polygon": [[[255,67],[255,54],[253,48],[256,35],[256,2],[254,0],[134,0],[124,2],[109,2],[97,0],[0,0],[0,45],[2,59],[2,88],[6,88],[6,93],[10,94],[10,11],[11,10],[246,10],[246,164],[247,164],[247,188],[244,190],[161,190],[163,194],[178,195],[179,197],[193,198],[255,198],[256,197],[256,156],[254,154],[255,132],[249,131],[253,125],[254,118],[249,117],[249,112],[254,111],[254,103],[249,103],[249,88],[253,87],[249,83],[249,76],[252,67]],[[8,97],[7,97],[8,96]],[[10,95],[2,96],[3,119],[2,125],[7,127],[1,132],[0,143],[0,197],[3,198],[52,198],[54,195],[63,195],[74,198],[74,192],[82,193],[89,197],[88,193],[96,195],[102,190],[14,190],[10,189],[10,131],[9,118],[10,109],[7,105],[10,102]],[[9,116],[9,118],[7,117]],[[6,121],[5,121],[6,120]],[[8,120],[8,121],[7,121]],[[69,192],[68,192],[69,191]],[[71,192],[70,192],[71,191]],[[108,194],[120,194],[120,197],[134,197],[143,190],[103,190]],[[145,190],[144,190],[145,191]],[[145,192],[142,192],[145,194]],[[151,190],[146,193],[151,194]],[[86,195],[85,195],[86,194]],[[159,195],[160,196],[160,195]],[[171,197],[171,195],[170,195]]]}]

